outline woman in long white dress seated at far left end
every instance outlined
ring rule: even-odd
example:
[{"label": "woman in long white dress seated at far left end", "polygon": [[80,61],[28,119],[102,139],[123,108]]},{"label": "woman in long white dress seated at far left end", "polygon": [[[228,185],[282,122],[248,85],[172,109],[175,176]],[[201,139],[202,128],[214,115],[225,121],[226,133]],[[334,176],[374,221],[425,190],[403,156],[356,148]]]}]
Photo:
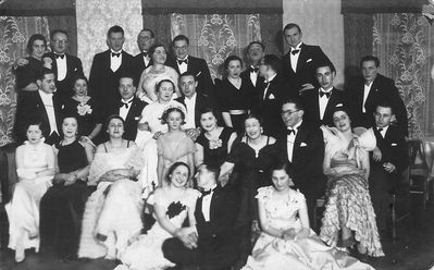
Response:
[{"label": "woman in long white dress seated at far left end", "polygon": [[54,176],[54,151],[44,144],[42,123],[26,127],[27,140],[16,148],[16,172],[12,199],[4,206],[9,218],[9,245],[15,249],[15,261],[23,261],[24,250],[39,250],[39,202]]}]

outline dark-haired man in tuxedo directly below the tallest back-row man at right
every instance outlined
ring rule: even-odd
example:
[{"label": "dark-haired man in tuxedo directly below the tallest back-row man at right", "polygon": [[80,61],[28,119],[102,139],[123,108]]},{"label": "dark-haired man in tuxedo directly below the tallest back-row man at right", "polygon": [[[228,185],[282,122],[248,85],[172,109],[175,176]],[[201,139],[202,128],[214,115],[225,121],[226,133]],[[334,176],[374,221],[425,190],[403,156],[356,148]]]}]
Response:
[{"label": "dark-haired man in tuxedo directly below the tallest back-row man at right", "polygon": [[347,105],[346,94],[333,86],[333,79],[336,76],[333,63],[319,63],[315,75],[320,87],[301,94],[305,108],[303,120],[315,126],[333,126],[334,108]]}]

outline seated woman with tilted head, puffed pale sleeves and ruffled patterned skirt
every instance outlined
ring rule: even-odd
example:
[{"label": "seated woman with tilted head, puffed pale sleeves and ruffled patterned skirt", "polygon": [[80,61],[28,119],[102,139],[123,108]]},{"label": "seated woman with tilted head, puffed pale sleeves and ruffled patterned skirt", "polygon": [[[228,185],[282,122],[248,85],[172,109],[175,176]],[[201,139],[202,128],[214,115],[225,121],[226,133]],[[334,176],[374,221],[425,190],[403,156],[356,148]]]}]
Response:
[{"label": "seated woman with tilted head, puffed pale sleeves and ruffled patterned skirt", "polygon": [[322,127],[328,181],[321,238],[345,249],[357,243],[362,255],[384,256],[368,188],[368,151],[375,147],[375,135],[363,127],[352,131],[344,108],[335,109],[333,121],[335,127]]}]

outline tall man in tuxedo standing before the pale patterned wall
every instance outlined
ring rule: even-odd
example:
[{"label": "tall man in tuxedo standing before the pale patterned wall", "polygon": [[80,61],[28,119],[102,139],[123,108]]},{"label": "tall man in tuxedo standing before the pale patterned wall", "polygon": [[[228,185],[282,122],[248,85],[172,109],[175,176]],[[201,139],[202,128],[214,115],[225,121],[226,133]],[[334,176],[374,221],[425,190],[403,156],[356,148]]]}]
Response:
[{"label": "tall man in tuxedo standing before the pale patterned wall", "polygon": [[134,58],[122,50],[124,29],[114,25],[107,34],[107,51],[94,58],[89,76],[89,95],[97,102],[101,115],[107,118],[121,99],[117,83],[121,74],[134,74]]}]

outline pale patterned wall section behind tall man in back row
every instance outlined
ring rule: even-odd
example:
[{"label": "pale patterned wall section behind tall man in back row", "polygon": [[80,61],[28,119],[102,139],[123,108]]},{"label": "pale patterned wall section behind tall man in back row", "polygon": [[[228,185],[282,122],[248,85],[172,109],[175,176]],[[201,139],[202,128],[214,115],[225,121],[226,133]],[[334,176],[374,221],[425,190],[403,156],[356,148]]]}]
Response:
[{"label": "pale patterned wall section behind tall man in back row", "polygon": [[137,35],[142,27],[140,0],[76,0],[78,58],[86,75],[96,53],[108,49],[107,32],[120,25],[125,32],[124,50],[137,54]]}]

